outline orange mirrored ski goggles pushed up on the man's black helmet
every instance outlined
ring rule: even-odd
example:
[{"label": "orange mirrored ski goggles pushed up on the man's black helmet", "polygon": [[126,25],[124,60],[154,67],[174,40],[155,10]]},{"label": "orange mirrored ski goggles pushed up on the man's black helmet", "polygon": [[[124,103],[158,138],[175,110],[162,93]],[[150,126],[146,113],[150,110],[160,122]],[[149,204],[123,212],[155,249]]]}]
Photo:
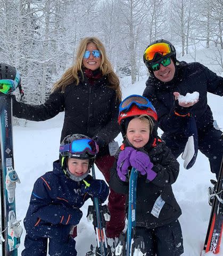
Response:
[{"label": "orange mirrored ski goggles pushed up on the man's black helmet", "polygon": [[146,61],[151,61],[154,59],[156,53],[159,53],[162,56],[166,56],[167,54],[171,53],[170,45],[167,43],[157,43],[148,46],[144,52],[144,59]]}]

